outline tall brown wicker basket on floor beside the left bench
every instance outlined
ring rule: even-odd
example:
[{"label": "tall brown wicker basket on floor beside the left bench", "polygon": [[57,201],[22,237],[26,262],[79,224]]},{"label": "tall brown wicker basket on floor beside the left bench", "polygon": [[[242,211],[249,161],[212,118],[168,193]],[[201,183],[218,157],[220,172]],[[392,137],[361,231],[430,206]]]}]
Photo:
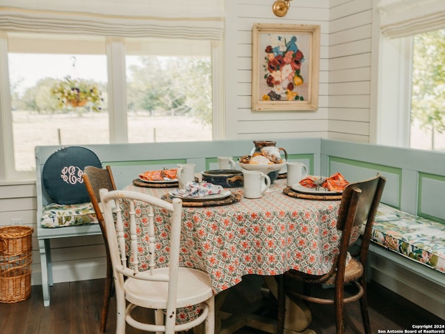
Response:
[{"label": "tall brown wicker basket on floor beside the left bench", "polygon": [[33,228],[0,228],[0,303],[16,303],[31,296]]}]

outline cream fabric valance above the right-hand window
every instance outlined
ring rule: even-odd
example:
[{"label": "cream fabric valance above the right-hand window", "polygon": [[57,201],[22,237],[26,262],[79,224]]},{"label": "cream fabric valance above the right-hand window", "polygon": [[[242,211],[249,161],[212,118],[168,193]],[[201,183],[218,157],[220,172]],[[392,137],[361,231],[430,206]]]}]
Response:
[{"label": "cream fabric valance above the right-hand window", "polygon": [[445,28],[445,0],[380,0],[380,27],[388,38]]}]

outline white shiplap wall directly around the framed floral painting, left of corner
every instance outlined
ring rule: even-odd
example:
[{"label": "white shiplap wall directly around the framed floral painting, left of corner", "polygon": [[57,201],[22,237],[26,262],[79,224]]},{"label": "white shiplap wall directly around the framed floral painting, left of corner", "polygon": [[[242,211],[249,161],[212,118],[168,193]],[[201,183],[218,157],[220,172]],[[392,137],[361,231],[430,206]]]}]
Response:
[{"label": "white shiplap wall directly around the framed floral painting, left of corner", "polygon": [[[330,1],[291,2],[285,17],[276,17],[271,0],[226,1],[226,119],[227,137],[327,138],[328,46]],[[266,24],[317,24],[321,26],[318,111],[252,111],[252,26]]]}]

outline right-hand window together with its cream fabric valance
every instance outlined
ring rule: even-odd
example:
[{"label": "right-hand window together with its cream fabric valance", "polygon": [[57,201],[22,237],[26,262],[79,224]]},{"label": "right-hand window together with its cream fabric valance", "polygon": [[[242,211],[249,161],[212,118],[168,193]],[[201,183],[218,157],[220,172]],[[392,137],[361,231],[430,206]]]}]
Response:
[{"label": "right-hand window together with its cream fabric valance", "polygon": [[445,3],[373,0],[373,8],[376,142],[445,150]]}]

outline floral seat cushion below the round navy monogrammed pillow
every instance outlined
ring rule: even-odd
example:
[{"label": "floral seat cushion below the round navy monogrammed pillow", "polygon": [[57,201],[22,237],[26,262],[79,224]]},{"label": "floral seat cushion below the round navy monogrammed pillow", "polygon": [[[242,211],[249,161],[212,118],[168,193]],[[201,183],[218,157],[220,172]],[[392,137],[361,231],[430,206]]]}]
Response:
[{"label": "floral seat cushion below the round navy monogrammed pillow", "polygon": [[42,228],[61,228],[91,223],[97,223],[95,209],[93,209],[91,202],[45,205],[40,221]]}]

